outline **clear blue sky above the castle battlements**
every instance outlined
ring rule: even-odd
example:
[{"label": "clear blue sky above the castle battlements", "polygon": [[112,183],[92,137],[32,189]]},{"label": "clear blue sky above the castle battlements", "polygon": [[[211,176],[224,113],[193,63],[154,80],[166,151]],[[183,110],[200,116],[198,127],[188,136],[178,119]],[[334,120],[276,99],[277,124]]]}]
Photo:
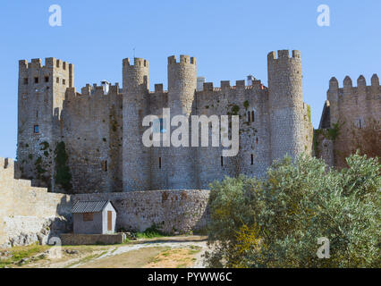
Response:
[{"label": "clear blue sky above the castle battlements", "polygon": [[[50,27],[48,8],[60,4],[63,26]],[[331,26],[317,24],[328,4]],[[6,1],[0,11],[0,156],[16,156],[20,59],[54,56],[75,64],[75,87],[122,82],[122,59],[149,61],[150,87],[166,86],[169,55],[198,59],[198,75],[213,81],[253,74],[267,85],[267,53],[299,49],[304,100],[318,127],[328,80],[343,85],[381,73],[381,2],[376,0],[273,1]]]}]

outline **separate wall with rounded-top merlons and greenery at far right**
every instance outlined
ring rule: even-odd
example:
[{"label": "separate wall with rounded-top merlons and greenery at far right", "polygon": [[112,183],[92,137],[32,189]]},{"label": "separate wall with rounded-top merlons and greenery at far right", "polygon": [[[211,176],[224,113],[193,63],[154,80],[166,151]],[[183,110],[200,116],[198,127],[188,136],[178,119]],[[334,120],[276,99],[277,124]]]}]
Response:
[{"label": "separate wall with rounded-top merlons and greenery at far right", "polygon": [[[360,75],[357,87],[353,87],[351,78],[347,76],[343,80],[343,88],[339,88],[336,78],[329,81],[319,130],[315,132],[315,154],[323,157],[330,166],[345,166],[344,157],[355,148],[357,135],[353,131],[379,128],[381,88],[377,74],[370,81],[370,86],[367,86],[366,79]],[[381,130],[376,131],[379,138]]]}]

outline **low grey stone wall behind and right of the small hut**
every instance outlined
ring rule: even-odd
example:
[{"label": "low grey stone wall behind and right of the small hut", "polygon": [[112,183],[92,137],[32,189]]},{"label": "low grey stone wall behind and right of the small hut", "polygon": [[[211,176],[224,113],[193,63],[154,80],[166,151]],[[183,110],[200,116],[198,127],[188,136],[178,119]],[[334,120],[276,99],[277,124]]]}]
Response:
[{"label": "low grey stone wall behind and right of the small hut", "polygon": [[145,231],[157,227],[167,233],[205,231],[209,191],[203,189],[148,190],[79,194],[77,200],[110,200],[116,211],[116,230]]}]

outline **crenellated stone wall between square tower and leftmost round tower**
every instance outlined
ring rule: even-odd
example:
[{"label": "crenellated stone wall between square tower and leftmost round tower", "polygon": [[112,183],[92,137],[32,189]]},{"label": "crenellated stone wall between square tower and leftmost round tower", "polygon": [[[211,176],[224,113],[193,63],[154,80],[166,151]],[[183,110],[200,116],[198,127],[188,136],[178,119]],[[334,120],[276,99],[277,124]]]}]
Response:
[{"label": "crenellated stone wall between square tower and leftmost round tower", "polygon": [[62,136],[72,193],[122,191],[123,97],[118,85],[82,93],[69,88],[63,103]]}]

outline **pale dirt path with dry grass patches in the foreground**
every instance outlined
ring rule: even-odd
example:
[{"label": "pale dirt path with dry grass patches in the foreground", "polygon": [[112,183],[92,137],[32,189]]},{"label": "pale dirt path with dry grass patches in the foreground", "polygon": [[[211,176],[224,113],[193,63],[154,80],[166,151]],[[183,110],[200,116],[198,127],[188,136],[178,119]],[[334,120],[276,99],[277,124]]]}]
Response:
[{"label": "pale dirt path with dry grass patches in the foreground", "polygon": [[[205,267],[206,237],[176,236],[135,240],[124,245],[67,246],[59,258],[33,261],[28,268]],[[19,267],[16,265],[16,267]]]}]

